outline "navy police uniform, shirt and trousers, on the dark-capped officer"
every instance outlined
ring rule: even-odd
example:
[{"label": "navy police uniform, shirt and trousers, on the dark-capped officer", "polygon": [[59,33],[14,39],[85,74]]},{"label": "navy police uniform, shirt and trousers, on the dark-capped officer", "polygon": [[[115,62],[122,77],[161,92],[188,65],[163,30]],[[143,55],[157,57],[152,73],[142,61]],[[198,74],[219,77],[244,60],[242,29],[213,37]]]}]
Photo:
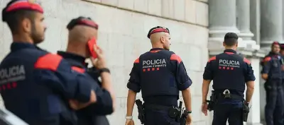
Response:
[{"label": "navy police uniform, shirt and trousers, on the dark-capped officer", "polygon": [[[209,59],[203,79],[213,80],[217,98],[212,125],[225,125],[227,119],[230,125],[242,125],[245,83],[256,79],[251,63],[233,49],[225,49],[224,53]],[[225,90],[231,98],[224,97]]]}]

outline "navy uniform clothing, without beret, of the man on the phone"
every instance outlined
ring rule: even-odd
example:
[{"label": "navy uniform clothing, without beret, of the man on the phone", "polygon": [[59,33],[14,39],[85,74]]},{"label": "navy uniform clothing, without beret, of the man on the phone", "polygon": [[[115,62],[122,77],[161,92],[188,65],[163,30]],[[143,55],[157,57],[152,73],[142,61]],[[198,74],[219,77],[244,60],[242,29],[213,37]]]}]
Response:
[{"label": "navy uniform clothing, without beret, of the man on the phone", "polygon": [[108,121],[107,123],[105,122],[107,120],[107,117],[105,117],[105,115],[114,112],[111,95],[107,90],[100,88],[99,86],[100,82],[98,80],[98,76],[94,76],[94,73],[97,73],[98,70],[94,71],[93,69],[92,70],[87,69],[87,64],[84,64],[85,58],[83,56],[79,56],[77,54],[71,54],[68,52],[58,52],[58,54],[62,56],[64,59],[66,59],[72,65],[73,70],[80,73],[85,73],[86,76],[92,78],[94,81],[92,88],[94,89],[97,95],[97,102],[77,111],[78,124],[84,124],[84,125],[109,124]]}]

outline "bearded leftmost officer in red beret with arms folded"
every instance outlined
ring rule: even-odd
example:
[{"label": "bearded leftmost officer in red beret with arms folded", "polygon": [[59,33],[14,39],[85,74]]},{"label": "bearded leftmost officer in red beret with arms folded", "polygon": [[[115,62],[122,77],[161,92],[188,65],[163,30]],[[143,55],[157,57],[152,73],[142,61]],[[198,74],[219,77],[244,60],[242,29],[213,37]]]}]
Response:
[{"label": "bearded leftmost officer in red beret with arms folded", "polygon": [[31,1],[10,1],[2,11],[13,35],[11,52],[0,64],[0,93],[6,109],[30,125],[77,124],[67,100],[94,103],[93,81],[72,71],[61,56],[36,44],[44,40],[43,8]]}]

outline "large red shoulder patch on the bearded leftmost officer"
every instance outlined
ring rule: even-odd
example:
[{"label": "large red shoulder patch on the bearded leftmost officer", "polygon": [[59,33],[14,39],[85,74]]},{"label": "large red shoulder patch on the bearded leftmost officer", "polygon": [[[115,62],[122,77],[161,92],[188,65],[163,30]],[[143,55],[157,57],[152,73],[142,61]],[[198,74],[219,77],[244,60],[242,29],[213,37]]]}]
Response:
[{"label": "large red shoulder patch on the bearded leftmost officer", "polygon": [[44,56],[40,56],[38,60],[35,62],[35,69],[47,69],[51,71],[56,71],[58,66],[62,60],[62,56],[58,54],[45,54]]}]

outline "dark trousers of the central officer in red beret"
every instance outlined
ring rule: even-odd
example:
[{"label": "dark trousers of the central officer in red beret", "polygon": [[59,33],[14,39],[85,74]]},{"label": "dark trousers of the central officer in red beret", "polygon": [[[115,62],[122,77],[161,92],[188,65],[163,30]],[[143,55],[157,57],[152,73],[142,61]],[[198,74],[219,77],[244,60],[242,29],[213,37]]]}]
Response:
[{"label": "dark trousers of the central officer in red beret", "polygon": [[145,108],[145,125],[180,125],[168,115],[168,109]]}]

